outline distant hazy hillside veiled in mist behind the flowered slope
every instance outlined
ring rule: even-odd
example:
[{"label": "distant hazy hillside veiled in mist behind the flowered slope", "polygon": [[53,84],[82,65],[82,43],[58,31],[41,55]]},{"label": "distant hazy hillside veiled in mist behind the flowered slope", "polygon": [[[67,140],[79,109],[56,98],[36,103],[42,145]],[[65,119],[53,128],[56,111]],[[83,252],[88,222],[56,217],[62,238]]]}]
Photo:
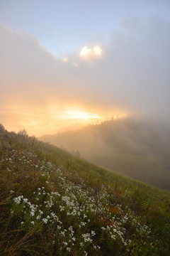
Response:
[{"label": "distant hazy hillside veiled in mist behind the flowered slope", "polygon": [[130,117],[40,139],[98,166],[170,190],[170,129]]}]

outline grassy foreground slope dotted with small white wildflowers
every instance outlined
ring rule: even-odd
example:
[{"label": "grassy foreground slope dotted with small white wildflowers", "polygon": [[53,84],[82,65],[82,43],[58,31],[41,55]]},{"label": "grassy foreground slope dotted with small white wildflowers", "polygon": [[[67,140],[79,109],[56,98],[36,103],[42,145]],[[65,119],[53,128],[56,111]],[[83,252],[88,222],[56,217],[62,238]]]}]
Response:
[{"label": "grassy foreground slope dotted with small white wildflowers", "polygon": [[0,255],[170,255],[168,191],[0,128]]}]

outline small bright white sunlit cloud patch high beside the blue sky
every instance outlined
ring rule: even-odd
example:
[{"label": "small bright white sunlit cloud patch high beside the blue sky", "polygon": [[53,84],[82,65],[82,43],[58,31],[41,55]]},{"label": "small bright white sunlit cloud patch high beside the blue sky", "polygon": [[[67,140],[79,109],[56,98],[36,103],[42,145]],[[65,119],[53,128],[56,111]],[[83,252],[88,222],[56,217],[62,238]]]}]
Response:
[{"label": "small bright white sunlit cloud patch high beside the blue sky", "polygon": [[81,58],[89,59],[101,56],[102,49],[100,46],[94,46],[94,48],[87,48],[84,46],[80,51]]}]

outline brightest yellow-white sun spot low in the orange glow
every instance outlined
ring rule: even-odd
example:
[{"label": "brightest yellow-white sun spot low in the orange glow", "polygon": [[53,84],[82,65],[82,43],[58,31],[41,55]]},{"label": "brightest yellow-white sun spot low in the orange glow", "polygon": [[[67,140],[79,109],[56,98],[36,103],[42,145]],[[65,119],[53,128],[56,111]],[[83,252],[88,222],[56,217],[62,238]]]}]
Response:
[{"label": "brightest yellow-white sun spot low in the orange glow", "polygon": [[81,110],[67,110],[66,111],[67,119],[98,119],[100,118],[98,114],[93,114]]}]

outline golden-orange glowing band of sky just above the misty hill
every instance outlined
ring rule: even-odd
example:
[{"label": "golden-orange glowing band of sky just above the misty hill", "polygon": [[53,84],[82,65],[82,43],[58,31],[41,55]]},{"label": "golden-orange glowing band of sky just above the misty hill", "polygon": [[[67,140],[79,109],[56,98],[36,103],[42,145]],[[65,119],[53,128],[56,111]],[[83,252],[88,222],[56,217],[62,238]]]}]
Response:
[{"label": "golden-orange glowing band of sky just above the misty hill", "polygon": [[18,132],[21,129],[26,129],[30,136],[35,135],[36,137],[77,130],[89,124],[101,124],[109,119],[128,117],[128,114],[118,110],[108,113],[104,110],[91,111],[90,108],[84,109],[84,107],[57,107],[54,105],[44,109],[10,105],[4,114],[7,117],[11,116],[10,119],[6,118],[2,122],[8,131]]}]

